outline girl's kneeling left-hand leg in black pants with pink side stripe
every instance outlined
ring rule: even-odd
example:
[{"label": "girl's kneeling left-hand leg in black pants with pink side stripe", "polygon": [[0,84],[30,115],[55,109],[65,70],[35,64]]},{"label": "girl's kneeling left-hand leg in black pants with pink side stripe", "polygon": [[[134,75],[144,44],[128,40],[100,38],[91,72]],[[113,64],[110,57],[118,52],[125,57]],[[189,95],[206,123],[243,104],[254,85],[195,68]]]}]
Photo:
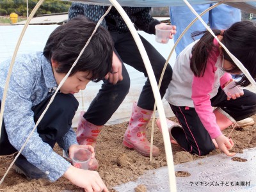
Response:
[{"label": "girl's kneeling left-hand leg in black pants with pink side stripe", "polygon": [[214,150],[214,143],[195,108],[170,106],[184,131],[180,132],[179,127],[172,129],[172,136],[177,143],[187,152],[198,156],[205,156]]}]

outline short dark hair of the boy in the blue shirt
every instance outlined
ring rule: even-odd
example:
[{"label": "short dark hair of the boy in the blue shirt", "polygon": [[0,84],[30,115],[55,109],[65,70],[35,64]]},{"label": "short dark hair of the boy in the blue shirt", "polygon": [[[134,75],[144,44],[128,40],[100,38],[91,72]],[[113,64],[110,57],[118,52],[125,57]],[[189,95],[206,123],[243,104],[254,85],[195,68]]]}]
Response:
[{"label": "short dark hair of the boy in the blue shirt", "polygon": [[[44,47],[44,56],[51,63],[58,62],[58,73],[67,74],[79,53],[92,35],[96,24],[86,17],[75,17],[56,28]],[[107,29],[100,27],[72,69],[76,72],[90,72],[90,79],[98,82],[111,72],[113,41]]]}]

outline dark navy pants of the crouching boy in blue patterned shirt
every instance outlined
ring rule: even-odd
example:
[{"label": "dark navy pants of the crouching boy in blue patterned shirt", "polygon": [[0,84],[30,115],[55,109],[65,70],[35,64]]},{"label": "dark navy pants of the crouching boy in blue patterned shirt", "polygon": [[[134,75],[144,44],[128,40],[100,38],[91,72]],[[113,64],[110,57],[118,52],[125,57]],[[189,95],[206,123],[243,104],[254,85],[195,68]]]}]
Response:
[{"label": "dark navy pants of the crouching boy in blue patterned shirt", "polygon": [[[52,94],[48,95],[48,97],[40,102],[40,104],[32,108],[35,123],[49,103],[51,96]],[[49,106],[49,109],[47,109],[44,118],[42,118],[36,129],[40,138],[42,138],[42,140],[45,143],[48,143],[51,147],[54,147],[56,140],[61,138],[70,129],[72,119],[74,118],[77,108],[78,102],[74,95],[57,93],[53,102]],[[3,121],[0,139],[0,155],[13,154],[14,152],[17,152],[17,150],[8,140],[8,135]]]}]

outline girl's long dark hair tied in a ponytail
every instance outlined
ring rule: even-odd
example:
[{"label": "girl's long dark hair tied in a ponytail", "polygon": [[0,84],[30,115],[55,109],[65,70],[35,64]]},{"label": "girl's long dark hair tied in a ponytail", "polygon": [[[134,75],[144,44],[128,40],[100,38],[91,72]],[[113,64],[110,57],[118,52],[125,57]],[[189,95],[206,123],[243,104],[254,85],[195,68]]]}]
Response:
[{"label": "girl's long dark hair tied in a ponytail", "polygon": [[[221,30],[212,30],[215,35],[220,35]],[[202,35],[202,38],[196,43],[192,58],[190,61],[190,68],[196,77],[204,76],[205,68],[209,53],[212,49],[218,49],[213,45],[213,36],[209,31],[197,31],[191,36]],[[223,33],[221,43],[227,47],[236,58],[243,63],[244,67],[250,72],[253,79],[256,79],[256,25],[254,22],[244,20],[232,24],[230,28]],[[230,61],[232,70],[227,72],[241,72],[236,63],[230,58],[227,52],[222,48],[224,60]],[[240,86],[248,86],[250,81],[242,74],[242,78],[237,82]]]}]

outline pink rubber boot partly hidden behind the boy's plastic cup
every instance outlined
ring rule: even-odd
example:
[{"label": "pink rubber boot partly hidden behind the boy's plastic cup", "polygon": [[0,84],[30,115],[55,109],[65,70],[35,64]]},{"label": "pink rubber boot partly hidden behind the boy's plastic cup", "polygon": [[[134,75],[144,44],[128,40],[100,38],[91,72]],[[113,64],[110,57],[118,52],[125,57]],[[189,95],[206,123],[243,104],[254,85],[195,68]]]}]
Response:
[{"label": "pink rubber boot partly hidden behind the boy's plastic cup", "polygon": [[[83,117],[84,113],[85,112],[82,111],[79,116],[76,140],[79,145],[92,145],[92,147],[95,148],[97,138],[103,126],[97,126],[88,122]],[[89,170],[97,170],[97,168],[99,168],[99,163],[94,157],[92,165],[89,166]]]}]

